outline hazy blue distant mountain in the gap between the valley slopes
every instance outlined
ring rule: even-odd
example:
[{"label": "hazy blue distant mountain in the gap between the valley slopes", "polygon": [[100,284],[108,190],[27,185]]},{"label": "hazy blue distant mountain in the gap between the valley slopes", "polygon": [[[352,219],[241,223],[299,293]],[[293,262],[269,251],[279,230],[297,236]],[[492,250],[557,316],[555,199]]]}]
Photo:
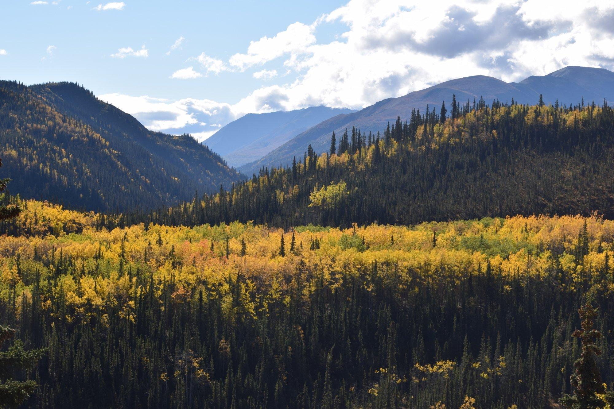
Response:
[{"label": "hazy blue distant mountain in the gap between the valley slopes", "polygon": [[313,125],[351,109],[312,106],[294,111],[247,114],[228,123],[206,140],[231,166],[241,166],[276,149]]}]

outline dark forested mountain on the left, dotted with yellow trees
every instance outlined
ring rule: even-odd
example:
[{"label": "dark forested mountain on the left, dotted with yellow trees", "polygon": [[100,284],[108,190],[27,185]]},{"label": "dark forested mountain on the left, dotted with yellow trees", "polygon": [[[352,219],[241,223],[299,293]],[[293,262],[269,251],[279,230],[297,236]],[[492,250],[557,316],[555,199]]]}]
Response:
[{"label": "dark forested mountain on the left, dotted with yellow trees", "polygon": [[101,211],[165,206],[241,177],[192,137],[149,131],[68,82],[0,82],[0,157],[12,193]]}]

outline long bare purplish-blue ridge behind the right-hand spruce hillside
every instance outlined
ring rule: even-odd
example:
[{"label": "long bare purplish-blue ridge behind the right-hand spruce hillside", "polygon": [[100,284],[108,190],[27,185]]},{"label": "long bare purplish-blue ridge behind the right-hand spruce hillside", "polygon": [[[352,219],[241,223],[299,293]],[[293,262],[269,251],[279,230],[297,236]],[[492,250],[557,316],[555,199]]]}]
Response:
[{"label": "long bare purplish-blue ridge behind the right-hand spruce hillside", "polygon": [[327,119],[303,133],[298,134],[288,142],[271,151],[259,160],[239,166],[239,170],[249,175],[257,172],[262,166],[278,166],[280,163],[289,165],[293,157],[302,157],[309,144],[317,152],[326,152],[330,146],[333,131],[342,133],[352,127],[363,132],[383,130],[387,123],[392,123],[397,116],[406,118],[412,109],[421,112],[435,108],[439,113],[441,101],[446,101],[448,110],[451,107],[452,95],[456,95],[459,103],[473,99],[484,98],[485,101],[495,99],[505,102],[515,101],[522,104],[537,103],[539,95],[543,94],[545,103],[559,99],[563,103],[579,103],[582,98],[601,103],[604,98],[614,101],[614,72],[602,68],[587,68],[569,66],[546,76],[531,76],[519,83],[504,82],[488,76],[471,76],[442,82],[424,90],[411,92],[398,98],[387,98],[351,114],[337,115]]}]

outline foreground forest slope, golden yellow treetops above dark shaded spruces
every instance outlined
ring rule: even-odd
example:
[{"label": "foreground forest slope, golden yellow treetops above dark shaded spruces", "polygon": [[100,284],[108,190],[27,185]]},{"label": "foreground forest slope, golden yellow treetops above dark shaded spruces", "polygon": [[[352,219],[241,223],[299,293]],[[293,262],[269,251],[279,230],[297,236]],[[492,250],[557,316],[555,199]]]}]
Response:
[{"label": "foreground forest slope, golden yellow treetops above dark shaded spruces", "polygon": [[556,407],[586,300],[612,389],[611,220],[107,230],[17,204],[0,315],[47,348],[28,407]]}]

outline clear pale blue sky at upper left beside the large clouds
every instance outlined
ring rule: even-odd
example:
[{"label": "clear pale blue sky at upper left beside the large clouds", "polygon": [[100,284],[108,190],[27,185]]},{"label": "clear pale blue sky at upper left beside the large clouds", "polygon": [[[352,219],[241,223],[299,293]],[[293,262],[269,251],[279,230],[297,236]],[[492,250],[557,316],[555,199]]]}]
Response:
[{"label": "clear pale blue sky at upper left beside the large clouds", "polygon": [[[170,74],[201,52],[228,58],[254,38],[283,31],[288,21],[315,20],[342,3],[127,0],[121,10],[96,11],[94,7],[108,2],[52,2],[2,2],[0,49],[8,57],[0,60],[2,79],[26,84],[69,80],[84,84],[96,95],[154,93],[171,99],[190,95],[229,103],[260,85],[252,72],[222,72],[198,84],[173,80]],[[166,55],[179,37],[184,37],[181,46]],[[51,56],[47,54],[50,45],[56,47]],[[111,57],[122,47],[141,49],[142,45],[148,50],[147,58]]]}]

